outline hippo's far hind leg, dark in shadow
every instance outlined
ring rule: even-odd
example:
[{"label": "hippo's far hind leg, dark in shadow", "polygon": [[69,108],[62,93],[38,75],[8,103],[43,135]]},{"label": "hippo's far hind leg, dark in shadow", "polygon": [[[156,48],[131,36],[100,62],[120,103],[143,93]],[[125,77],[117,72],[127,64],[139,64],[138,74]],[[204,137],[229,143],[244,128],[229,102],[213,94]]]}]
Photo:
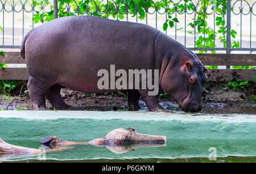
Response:
[{"label": "hippo's far hind leg, dark in shadow", "polygon": [[60,89],[61,86],[58,84],[51,86],[51,88],[46,92],[46,98],[51,103],[52,107],[56,107],[58,110],[71,108],[71,106],[67,105],[61,97]]}]

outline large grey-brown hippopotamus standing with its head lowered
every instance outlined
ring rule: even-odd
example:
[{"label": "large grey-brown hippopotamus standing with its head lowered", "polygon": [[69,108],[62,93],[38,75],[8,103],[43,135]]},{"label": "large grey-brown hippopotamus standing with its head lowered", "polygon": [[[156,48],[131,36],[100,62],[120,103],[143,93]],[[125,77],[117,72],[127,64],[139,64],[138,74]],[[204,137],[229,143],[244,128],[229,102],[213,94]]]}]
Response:
[{"label": "large grey-brown hippopotamus standing with its head lowered", "polygon": [[148,110],[165,110],[159,104],[159,90],[149,95],[152,88],[148,86],[130,88],[135,86],[135,80],[128,77],[127,88],[113,86],[111,83],[121,76],[120,72],[104,82],[110,88],[98,88],[98,71],[111,73],[113,65],[126,72],[157,70],[139,80],[139,85],[144,80],[154,81],[182,110],[202,109],[201,87],[207,81],[207,69],[184,45],[145,24],[98,16],[65,16],[29,31],[23,38],[20,55],[26,59],[30,74],[27,87],[34,109],[46,109],[45,97],[56,109],[71,109],[60,94],[60,89],[66,87],[86,93],[126,89],[131,110],[140,108],[140,97]]}]

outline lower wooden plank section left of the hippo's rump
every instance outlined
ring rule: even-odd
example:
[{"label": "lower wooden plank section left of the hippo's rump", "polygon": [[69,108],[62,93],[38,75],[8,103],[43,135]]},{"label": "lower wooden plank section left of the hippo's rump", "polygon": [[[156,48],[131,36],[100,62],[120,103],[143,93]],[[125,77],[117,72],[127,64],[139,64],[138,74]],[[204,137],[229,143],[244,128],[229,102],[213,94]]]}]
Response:
[{"label": "lower wooden plank section left of the hippo's rump", "polygon": [[0,80],[28,80],[27,68],[0,68]]}]

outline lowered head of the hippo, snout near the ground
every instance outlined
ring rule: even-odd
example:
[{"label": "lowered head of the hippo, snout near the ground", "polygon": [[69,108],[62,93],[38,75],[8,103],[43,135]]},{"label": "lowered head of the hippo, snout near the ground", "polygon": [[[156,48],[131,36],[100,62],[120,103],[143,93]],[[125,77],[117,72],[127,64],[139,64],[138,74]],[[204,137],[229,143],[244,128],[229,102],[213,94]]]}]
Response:
[{"label": "lowered head of the hippo, snout near the ground", "polygon": [[196,112],[202,109],[202,85],[207,81],[208,71],[197,56],[184,50],[175,53],[166,63],[160,85],[170,94],[182,110]]}]

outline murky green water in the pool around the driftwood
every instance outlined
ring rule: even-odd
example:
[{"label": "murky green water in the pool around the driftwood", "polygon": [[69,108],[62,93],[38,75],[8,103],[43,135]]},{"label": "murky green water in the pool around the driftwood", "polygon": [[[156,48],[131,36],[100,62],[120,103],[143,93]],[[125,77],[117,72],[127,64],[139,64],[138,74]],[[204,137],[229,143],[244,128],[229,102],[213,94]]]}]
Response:
[{"label": "murky green water in the pool around the driftwood", "polygon": [[[24,147],[41,147],[38,140],[6,140],[6,142]],[[212,153],[209,151],[210,147],[216,148],[216,160],[209,159]],[[123,146],[122,149],[126,150],[123,154],[115,154],[106,147],[76,145],[69,146],[68,150],[47,152],[44,160],[39,160],[38,156],[6,159],[12,157],[9,154],[0,154],[0,160],[23,162],[256,162],[255,142],[250,140],[167,139],[167,145],[163,147],[134,149],[134,147]]]}]

